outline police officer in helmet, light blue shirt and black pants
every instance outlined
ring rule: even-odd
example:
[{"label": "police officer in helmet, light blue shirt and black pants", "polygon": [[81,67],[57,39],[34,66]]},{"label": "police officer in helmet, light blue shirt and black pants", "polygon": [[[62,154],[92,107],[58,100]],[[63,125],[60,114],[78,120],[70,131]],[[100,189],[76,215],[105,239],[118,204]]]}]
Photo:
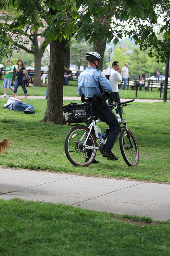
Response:
[{"label": "police officer in helmet, light blue shirt and black pants", "polygon": [[[86,70],[81,72],[78,77],[78,94],[84,94],[86,98],[90,98],[89,100],[94,102],[90,107],[92,114],[102,122],[106,122],[109,126],[109,134],[104,146],[103,157],[107,157],[111,160],[118,160],[118,158],[111,152],[111,149],[113,148],[115,140],[120,132],[120,124],[111,108],[106,104],[104,94],[110,94],[113,90],[109,80],[102,71],[98,70],[101,59],[102,57],[98,52],[86,53],[88,67]],[[85,107],[85,110],[86,116],[89,118],[90,112],[88,108]]]}]

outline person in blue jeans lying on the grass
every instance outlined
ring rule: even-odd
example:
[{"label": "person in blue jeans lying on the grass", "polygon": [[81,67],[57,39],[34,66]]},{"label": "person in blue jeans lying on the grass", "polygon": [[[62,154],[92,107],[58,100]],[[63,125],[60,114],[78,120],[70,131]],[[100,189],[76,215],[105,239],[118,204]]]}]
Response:
[{"label": "person in blue jeans lying on the grass", "polygon": [[29,105],[20,99],[10,97],[7,100],[7,103],[4,104],[3,108],[9,108],[10,110],[23,111],[24,114],[33,114],[35,113],[33,105]]}]

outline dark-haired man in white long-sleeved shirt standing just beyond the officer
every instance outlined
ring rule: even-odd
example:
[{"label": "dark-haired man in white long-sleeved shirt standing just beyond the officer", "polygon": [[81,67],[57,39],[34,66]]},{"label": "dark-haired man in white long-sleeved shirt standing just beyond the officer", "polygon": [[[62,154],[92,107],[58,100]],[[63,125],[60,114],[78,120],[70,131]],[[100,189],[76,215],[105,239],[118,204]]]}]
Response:
[{"label": "dark-haired man in white long-sleeved shirt standing just beyond the officer", "polygon": [[[110,76],[109,76],[109,82],[112,85],[113,92],[111,92],[109,98],[108,98],[108,104],[114,102],[120,102],[120,96],[119,96],[119,88],[118,88],[118,82],[122,81],[121,78],[121,68],[119,67],[118,61],[113,61],[112,63],[112,69],[110,70]],[[120,118],[122,119],[122,111],[121,108],[119,109]]]}]

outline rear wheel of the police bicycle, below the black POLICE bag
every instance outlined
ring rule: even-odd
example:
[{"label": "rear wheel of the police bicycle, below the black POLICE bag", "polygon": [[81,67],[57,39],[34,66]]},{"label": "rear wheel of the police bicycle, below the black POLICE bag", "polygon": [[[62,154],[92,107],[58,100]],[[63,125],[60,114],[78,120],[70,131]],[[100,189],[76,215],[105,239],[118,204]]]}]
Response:
[{"label": "rear wheel of the police bicycle, below the black POLICE bag", "polygon": [[76,126],[66,135],[64,150],[70,163],[75,166],[88,166],[96,156],[97,145],[93,134],[89,134],[86,145],[83,146],[88,132],[88,128]]}]

